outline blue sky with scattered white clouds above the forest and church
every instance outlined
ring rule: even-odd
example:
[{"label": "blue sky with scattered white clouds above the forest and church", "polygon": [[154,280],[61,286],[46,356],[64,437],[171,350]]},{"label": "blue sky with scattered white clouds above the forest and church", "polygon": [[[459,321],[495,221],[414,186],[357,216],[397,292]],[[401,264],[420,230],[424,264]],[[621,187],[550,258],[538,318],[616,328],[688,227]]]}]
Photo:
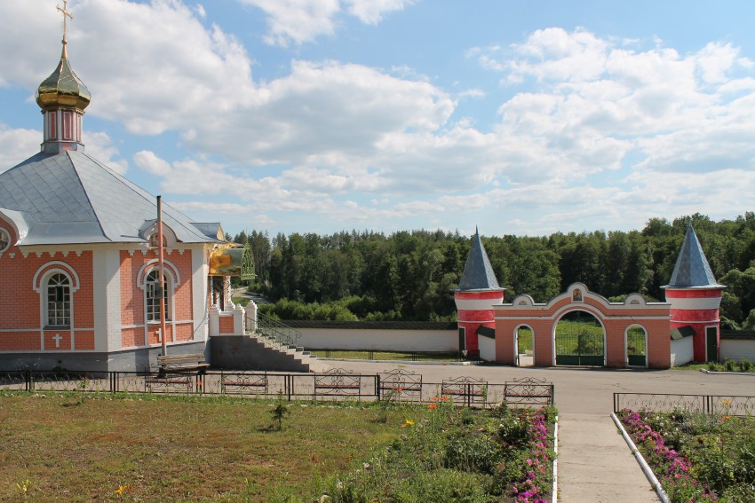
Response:
[{"label": "blue sky with scattered white clouds above the forest and church", "polygon": [[[0,170],[62,0],[0,3]],[[86,152],[197,221],[485,235],[753,210],[755,3],[72,0]]]}]

